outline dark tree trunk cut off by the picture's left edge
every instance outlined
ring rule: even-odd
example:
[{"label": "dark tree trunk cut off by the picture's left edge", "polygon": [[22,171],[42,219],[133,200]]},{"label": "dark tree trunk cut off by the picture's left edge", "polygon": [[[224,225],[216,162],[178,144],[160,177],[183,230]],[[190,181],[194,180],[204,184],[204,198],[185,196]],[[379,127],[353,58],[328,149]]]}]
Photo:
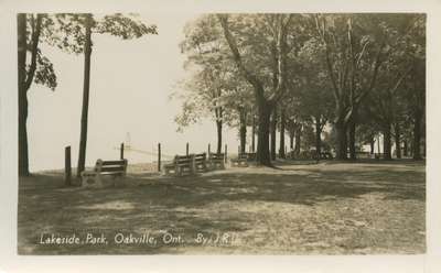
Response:
[{"label": "dark tree trunk cut off by the picture's left edge", "polygon": [[19,175],[29,176],[28,154],[28,92],[26,79],[26,14],[17,15],[18,24],[18,89],[19,89]]}]

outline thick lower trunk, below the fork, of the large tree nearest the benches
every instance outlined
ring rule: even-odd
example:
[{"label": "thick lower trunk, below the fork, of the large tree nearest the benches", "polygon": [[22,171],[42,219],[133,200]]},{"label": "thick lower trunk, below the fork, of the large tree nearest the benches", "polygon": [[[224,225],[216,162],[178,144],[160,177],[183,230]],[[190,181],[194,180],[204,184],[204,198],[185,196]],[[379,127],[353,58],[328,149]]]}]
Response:
[{"label": "thick lower trunk, below the fork, of the large tree nearest the benches", "polygon": [[270,166],[269,154],[269,127],[271,117],[271,106],[263,99],[258,100],[259,107],[259,127],[257,138],[257,161],[259,164]]}]

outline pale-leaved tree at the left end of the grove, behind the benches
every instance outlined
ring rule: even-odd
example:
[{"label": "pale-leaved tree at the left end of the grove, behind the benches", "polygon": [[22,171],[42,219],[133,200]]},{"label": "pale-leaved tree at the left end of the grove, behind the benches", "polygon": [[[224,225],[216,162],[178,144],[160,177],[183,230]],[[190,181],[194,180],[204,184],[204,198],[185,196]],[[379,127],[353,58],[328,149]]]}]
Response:
[{"label": "pale-leaved tree at the left end of the grove, behind the benches", "polygon": [[217,153],[222,152],[223,127],[226,114],[222,97],[230,78],[230,67],[224,57],[220,29],[212,17],[201,17],[189,22],[184,28],[185,39],[180,44],[181,52],[186,54],[184,68],[192,72],[182,90],[173,96],[183,100],[183,111],[175,117],[179,130],[196,122],[200,118],[211,116],[216,123]]}]

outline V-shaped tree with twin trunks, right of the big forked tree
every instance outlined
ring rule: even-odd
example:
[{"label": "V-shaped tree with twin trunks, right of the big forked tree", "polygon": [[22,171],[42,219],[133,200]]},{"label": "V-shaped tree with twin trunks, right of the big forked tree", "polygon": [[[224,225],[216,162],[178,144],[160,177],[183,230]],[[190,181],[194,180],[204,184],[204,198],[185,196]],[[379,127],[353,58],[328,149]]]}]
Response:
[{"label": "V-shaped tree with twin trunks, right of the big forked tree", "polygon": [[335,100],[337,157],[347,157],[349,130],[349,153],[355,159],[358,108],[375,88],[384,59],[402,34],[396,31],[396,24],[407,18],[402,14],[314,14],[312,18]]}]

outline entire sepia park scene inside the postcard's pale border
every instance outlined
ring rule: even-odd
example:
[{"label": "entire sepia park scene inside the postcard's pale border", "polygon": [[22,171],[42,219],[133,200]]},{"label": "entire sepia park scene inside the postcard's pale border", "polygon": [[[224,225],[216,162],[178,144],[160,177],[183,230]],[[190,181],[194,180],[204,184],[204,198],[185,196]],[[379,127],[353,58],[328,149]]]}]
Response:
[{"label": "entire sepia park scene inside the postcard's pale border", "polygon": [[426,25],[17,13],[18,254],[424,254]]}]

